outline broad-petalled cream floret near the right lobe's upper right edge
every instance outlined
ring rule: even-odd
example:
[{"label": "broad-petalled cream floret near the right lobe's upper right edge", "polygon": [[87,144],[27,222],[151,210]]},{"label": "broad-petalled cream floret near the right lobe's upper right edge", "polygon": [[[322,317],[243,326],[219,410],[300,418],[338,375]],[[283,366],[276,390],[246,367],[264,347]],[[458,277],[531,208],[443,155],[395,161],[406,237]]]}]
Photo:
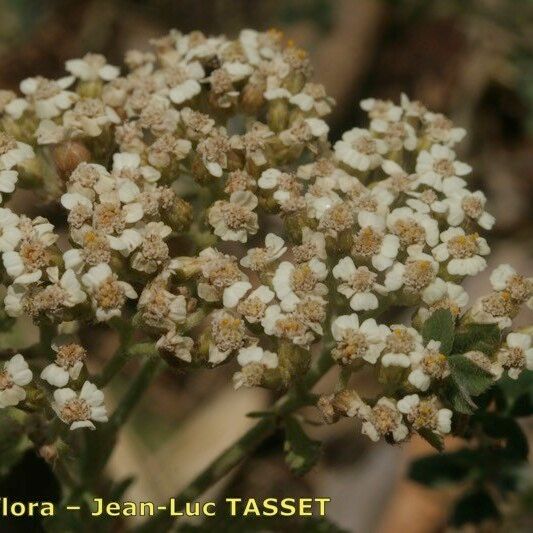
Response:
[{"label": "broad-petalled cream floret near the right lobe's upper right edge", "polygon": [[418,154],[416,172],[420,175],[419,183],[441,190],[443,179],[470,174],[472,167],[456,161],[455,152],[447,146],[434,144],[431,151],[422,150]]}]

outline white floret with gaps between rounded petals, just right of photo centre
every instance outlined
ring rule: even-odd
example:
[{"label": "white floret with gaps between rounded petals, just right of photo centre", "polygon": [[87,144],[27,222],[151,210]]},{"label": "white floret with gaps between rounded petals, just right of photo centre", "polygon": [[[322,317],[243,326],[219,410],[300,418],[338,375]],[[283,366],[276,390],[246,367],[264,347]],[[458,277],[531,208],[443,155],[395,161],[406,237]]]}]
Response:
[{"label": "white floret with gaps between rounded petals, just right of photo centre", "polygon": [[375,293],[387,294],[386,287],[377,282],[377,274],[367,267],[355,267],[351,257],[344,257],[333,268],[333,276],[344,283],[337,290],[350,300],[354,311],[377,309],[379,302]]}]

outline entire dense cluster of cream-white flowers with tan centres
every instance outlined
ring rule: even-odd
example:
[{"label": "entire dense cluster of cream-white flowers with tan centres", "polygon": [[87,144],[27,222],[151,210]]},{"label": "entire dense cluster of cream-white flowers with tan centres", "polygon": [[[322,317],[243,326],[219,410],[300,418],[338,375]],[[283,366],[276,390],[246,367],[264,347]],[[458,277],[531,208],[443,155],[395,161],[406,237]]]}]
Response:
[{"label": "entire dense cluster of cream-white flowers with tan centres", "polygon": [[[124,71],[87,54],[0,92],[5,313],[55,338],[39,379],[20,354],[5,363],[0,407],[51,409],[72,429],[106,421],[85,349],[58,335],[95,323],[124,349],[135,328],[172,366],[233,363],[235,388],[288,388],[322,347],[342,378],[318,402],[325,420],[356,417],[372,440],[452,431],[457,356],[492,381],[533,367],[531,336],[510,329],[533,279],[503,265],[466,309],[461,283],[485,269],[494,218],[455,152],[464,129],[405,95],[371,98],[368,128],[332,145],[334,102],[280,32],[151,44]],[[63,216],[15,213],[17,184]],[[395,308],[412,323],[381,323]],[[436,316],[498,342],[451,353],[428,334]],[[360,369],[376,397],[350,386]]]}]

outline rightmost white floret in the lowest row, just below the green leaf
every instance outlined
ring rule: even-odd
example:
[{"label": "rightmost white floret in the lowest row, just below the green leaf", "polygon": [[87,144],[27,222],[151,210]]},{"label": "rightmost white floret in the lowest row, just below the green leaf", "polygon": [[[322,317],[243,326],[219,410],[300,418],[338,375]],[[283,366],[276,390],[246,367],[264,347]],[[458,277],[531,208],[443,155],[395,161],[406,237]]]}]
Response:
[{"label": "rightmost white floret in the lowest row, just below the green leaf", "polygon": [[398,410],[406,415],[415,430],[430,429],[440,435],[446,435],[452,429],[452,411],[439,409],[435,397],[420,399],[418,394],[404,396],[397,403]]}]

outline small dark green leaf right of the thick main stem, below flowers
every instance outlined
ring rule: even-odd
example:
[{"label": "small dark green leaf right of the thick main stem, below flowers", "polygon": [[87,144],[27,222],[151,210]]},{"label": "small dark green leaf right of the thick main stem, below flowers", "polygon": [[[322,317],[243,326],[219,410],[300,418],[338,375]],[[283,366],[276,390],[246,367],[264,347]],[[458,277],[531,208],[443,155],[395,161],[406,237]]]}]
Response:
[{"label": "small dark green leaf right of the thick main stem, below flowers", "polygon": [[302,476],[318,461],[321,444],[310,439],[294,417],[285,420],[285,437],[285,460],[294,474]]}]

